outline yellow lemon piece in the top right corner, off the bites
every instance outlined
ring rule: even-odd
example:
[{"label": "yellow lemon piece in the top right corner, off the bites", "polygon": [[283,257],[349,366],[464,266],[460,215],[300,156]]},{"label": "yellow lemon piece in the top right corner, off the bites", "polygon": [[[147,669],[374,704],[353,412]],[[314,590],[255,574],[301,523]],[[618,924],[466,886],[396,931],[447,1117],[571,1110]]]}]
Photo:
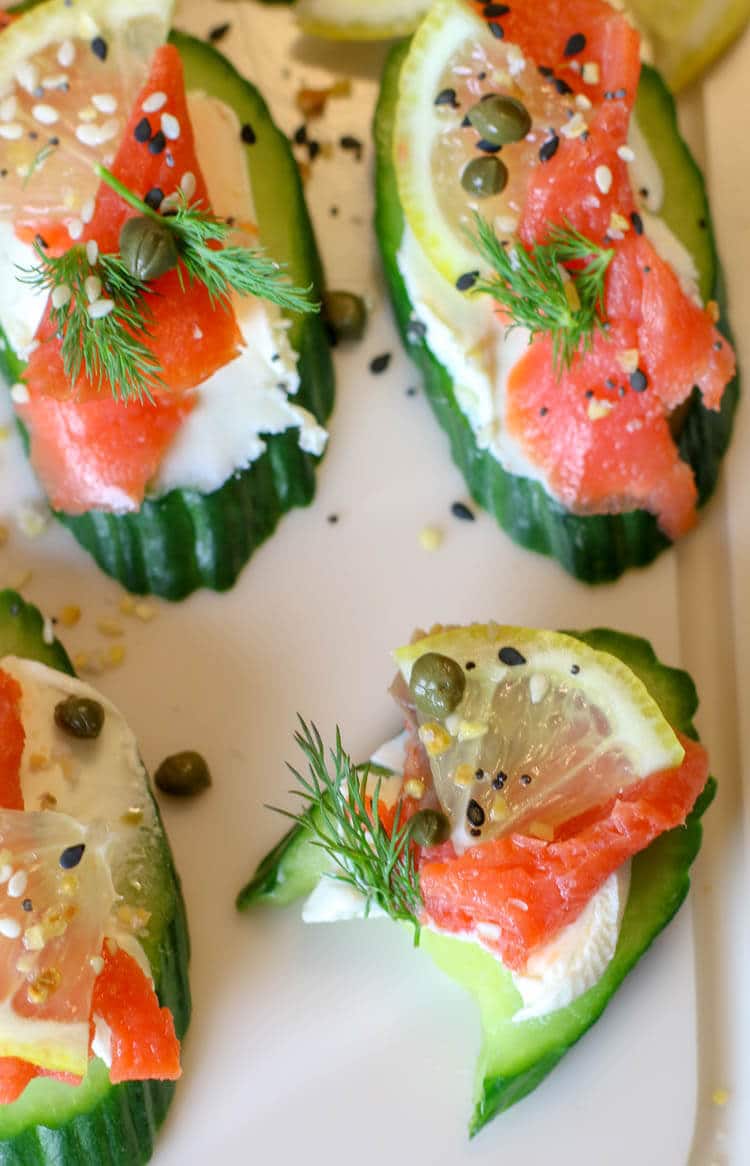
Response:
[{"label": "yellow lemon piece in the top right corner, off the bites", "polygon": [[695,80],[742,33],[750,0],[629,0],[674,90]]}]

